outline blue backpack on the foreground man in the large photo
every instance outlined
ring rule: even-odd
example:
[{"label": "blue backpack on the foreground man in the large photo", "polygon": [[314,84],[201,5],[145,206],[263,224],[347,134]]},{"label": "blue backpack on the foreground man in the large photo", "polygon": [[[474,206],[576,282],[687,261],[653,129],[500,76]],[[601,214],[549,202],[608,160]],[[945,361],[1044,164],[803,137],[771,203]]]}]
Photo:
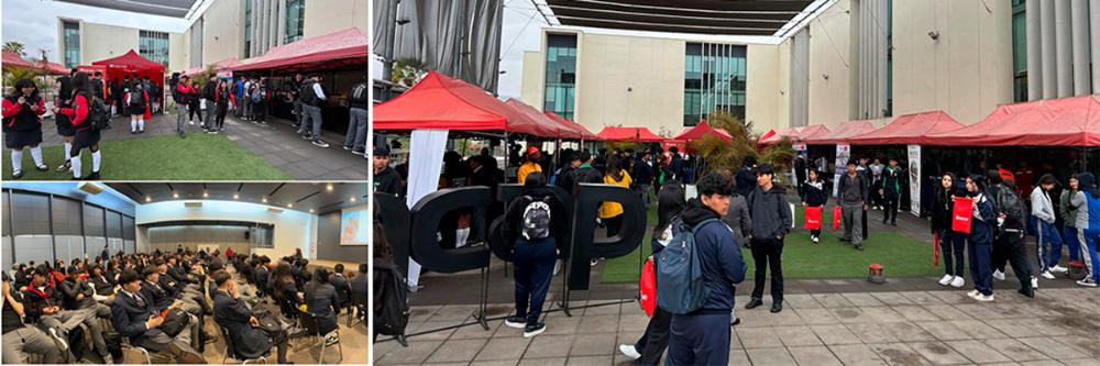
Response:
[{"label": "blue backpack on the foreground man in the large photo", "polygon": [[[706,303],[711,290],[695,245],[695,232],[718,219],[707,219],[692,230],[681,228],[657,255],[657,306],[673,314],[686,314]],[[683,225],[676,223],[678,225]]]}]

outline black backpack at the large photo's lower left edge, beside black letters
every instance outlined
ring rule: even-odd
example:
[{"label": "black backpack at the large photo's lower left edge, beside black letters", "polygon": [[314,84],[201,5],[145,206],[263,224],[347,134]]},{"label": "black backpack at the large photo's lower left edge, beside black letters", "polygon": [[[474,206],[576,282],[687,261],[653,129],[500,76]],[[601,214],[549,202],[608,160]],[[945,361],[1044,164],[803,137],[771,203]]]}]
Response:
[{"label": "black backpack at the large photo's lower left edge, beside black letters", "polygon": [[394,335],[402,342],[409,322],[408,287],[393,260],[374,259],[374,333]]}]

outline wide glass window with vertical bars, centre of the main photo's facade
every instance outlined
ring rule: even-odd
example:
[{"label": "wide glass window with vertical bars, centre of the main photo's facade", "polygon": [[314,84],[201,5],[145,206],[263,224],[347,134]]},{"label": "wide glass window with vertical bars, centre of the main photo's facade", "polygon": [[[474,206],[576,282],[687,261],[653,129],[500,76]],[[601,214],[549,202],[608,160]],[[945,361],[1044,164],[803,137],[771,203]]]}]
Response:
[{"label": "wide glass window with vertical bars, centre of the main photo's facade", "polygon": [[684,51],[684,120],[693,126],[723,110],[745,119],[745,46],[689,43]]}]

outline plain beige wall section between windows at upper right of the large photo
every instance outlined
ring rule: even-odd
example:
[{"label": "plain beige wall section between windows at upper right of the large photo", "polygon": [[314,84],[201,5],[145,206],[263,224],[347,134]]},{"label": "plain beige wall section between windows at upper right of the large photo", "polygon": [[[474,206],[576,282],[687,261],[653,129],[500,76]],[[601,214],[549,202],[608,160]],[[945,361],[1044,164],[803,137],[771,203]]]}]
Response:
[{"label": "plain beige wall section between windows at upper right of the large photo", "polygon": [[[1011,1],[893,7],[894,115],[942,109],[970,124],[1012,102]],[[932,31],[939,32],[938,41],[928,36]]]}]

